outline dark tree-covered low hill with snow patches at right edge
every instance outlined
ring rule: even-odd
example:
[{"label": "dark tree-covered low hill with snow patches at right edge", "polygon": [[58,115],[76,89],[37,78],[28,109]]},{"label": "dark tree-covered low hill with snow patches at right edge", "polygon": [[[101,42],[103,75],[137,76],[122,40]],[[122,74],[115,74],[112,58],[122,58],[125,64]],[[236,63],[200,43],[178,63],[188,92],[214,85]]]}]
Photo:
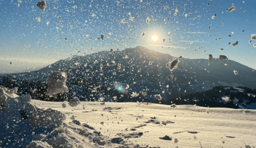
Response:
[{"label": "dark tree-covered low hill with snow patches at right edge", "polygon": [[181,95],[176,105],[197,105],[204,107],[226,107],[233,109],[256,109],[256,89],[247,87],[215,86],[201,93]]}]

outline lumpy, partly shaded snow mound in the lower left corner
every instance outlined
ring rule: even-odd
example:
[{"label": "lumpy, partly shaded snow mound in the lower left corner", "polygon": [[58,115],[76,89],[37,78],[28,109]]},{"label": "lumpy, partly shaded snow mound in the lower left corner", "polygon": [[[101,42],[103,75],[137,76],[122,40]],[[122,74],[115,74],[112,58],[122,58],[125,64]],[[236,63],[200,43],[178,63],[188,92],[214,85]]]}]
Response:
[{"label": "lumpy, partly shaded snow mound in the lower left corner", "polygon": [[[64,122],[66,116],[60,111],[33,106],[31,96],[18,96],[17,90],[0,86],[0,147],[98,148],[112,144],[80,121]],[[77,98],[72,100],[78,104]]]}]

